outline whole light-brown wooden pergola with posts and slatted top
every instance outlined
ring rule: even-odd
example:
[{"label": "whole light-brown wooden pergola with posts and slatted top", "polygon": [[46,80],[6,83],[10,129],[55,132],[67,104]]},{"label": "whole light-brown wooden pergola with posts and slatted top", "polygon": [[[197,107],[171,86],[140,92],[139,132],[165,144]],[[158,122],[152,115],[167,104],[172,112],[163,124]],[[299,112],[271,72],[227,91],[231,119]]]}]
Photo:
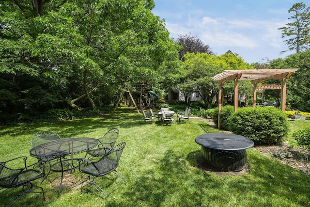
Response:
[{"label": "whole light-brown wooden pergola with posts and slatted top", "polygon": [[[225,70],[216,76],[212,77],[213,80],[216,80],[219,85],[218,90],[218,128],[220,128],[220,111],[222,106],[222,84],[224,84],[228,80],[234,80],[234,111],[238,108],[238,80],[250,80],[254,85],[253,89],[253,108],[256,107],[256,94],[257,94],[257,84],[262,83],[265,80],[282,80],[282,84],[280,87],[276,87],[275,89],[281,90],[281,100],[280,100],[280,108],[282,111],[285,111],[286,105],[286,80],[290,78],[294,72],[296,72],[299,68],[292,69],[262,69],[262,70]],[[271,86],[267,85],[267,89]]]}]

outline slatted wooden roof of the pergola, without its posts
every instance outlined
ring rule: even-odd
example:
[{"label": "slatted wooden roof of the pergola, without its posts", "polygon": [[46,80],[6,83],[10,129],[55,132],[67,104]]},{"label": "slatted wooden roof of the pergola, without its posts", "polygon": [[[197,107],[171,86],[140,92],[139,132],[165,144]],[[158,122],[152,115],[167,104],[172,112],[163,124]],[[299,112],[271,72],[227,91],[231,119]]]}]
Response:
[{"label": "slatted wooden roof of the pergola, without its posts", "polygon": [[212,77],[218,84],[228,80],[250,80],[254,83],[261,83],[265,80],[280,80],[291,77],[299,68],[290,69],[261,69],[261,70],[225,70]]}]

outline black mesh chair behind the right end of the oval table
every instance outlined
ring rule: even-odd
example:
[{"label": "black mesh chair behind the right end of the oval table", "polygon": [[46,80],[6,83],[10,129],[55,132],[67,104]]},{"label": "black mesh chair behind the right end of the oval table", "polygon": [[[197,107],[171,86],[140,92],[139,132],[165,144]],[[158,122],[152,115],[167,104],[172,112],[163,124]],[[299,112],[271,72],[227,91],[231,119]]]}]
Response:
[{"label": "black mesh chair behind the right end of the oval table", "polygon": [[118,128],[109,129],[109,131],[107,131],[105,135],[98,139],[98,147],[88,150],[85,158],[87,155],[89,155],[90,157],[99,157],[105,155],[115,145],[119,135],[120,131]]}]

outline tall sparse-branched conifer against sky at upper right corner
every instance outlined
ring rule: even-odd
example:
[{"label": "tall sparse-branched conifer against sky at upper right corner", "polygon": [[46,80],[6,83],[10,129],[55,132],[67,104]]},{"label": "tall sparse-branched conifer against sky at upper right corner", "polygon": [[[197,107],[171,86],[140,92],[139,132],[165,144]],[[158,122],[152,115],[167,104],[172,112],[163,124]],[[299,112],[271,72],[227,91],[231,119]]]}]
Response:
[{"label": "tall sparse-branched conifer against sky at upper right corner", "polygon": [[295,3],[288,12],[292,15],[288,18],[290,22],[278,28],[282,32],[282,38],[288,37],[284,40],[288,50],[281,53],[290,50],[299,53],[310,47],[310,7],[306,7],[304,3]]}]

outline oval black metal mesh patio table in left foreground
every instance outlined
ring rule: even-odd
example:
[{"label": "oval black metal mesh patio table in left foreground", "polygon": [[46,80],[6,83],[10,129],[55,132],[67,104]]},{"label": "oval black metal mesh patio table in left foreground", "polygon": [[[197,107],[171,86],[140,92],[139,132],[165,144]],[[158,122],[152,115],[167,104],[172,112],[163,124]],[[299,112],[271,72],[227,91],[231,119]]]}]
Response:
[{"label": "oval black metal mesh patio table in left foreground", "polygon": [[73,159],[72,156],[97,146],[98,142],[99,141],[97,139],[88,137],[55,140],[33,147],[30,150],[30,155],[37,159],[51,160],[59,158],[57,163],[50,166],[51,171],[62,173],[61,183],[58,191],[59,197],[60,191],[62,189],[63,173],[78,167],[78,165],[74,164],[74,160],[78,159]]}]

